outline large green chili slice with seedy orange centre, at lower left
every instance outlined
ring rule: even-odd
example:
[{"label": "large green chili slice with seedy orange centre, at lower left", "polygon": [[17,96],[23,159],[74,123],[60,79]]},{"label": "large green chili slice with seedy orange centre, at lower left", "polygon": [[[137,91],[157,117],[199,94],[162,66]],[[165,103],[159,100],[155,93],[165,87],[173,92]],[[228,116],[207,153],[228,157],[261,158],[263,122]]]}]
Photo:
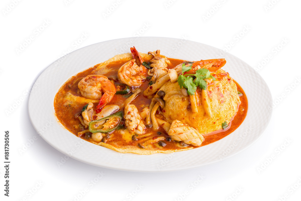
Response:
[{"label": "large green chili slice with seedy orange centre, at lower left", "polygon": [[[123,118],[122,112],[119,111],[119,112],[116,112],[105,118],[95,120],[95,121],[90,121],[89,122],[89,131],[91,133],[109,133],[118,127],[122,118]],[[102,125],[97,125],[98,122],[101,122],[103,120],[107,120],[107,121]],[[99,127],[101,127],[101,128],[99,128]]]}]

